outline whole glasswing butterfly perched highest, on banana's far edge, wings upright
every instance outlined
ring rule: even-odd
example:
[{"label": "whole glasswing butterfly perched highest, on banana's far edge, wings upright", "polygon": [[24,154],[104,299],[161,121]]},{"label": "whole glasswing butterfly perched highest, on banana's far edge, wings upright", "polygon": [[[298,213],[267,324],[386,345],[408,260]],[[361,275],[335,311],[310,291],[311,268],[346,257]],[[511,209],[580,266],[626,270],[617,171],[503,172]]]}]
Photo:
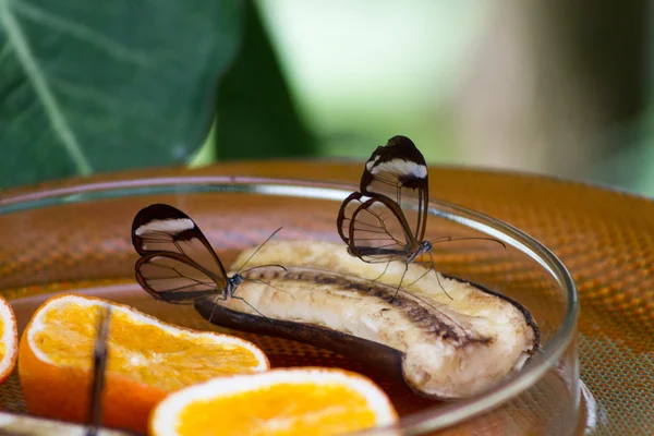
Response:
[{"label": "whole glasswing butterfly perched highest, on banana's far edge, wings upright", "polygon": [[[386,268],[393,261],[404,263],[404,272],[391,302],[401,288],[409,264],[416,262],[423,254],[428,254],[431,267],[425,275],[434,269],[433,243],[483,239],[504,245],[491,238],[447,237],[425,240],[428,201],[429,183],[425,158],[411,140],[398,135],[375,149],[365,164],[359,192],[350,194],[341,204],[337,229],[348,244],[348,253],[370,264],[386,263]],[[413,209],[416,209],[415,217],[409,219],[409,210]],[[385,272],[386,269],[382,276]],[[445,292],[443,286],[440,288]]]}]

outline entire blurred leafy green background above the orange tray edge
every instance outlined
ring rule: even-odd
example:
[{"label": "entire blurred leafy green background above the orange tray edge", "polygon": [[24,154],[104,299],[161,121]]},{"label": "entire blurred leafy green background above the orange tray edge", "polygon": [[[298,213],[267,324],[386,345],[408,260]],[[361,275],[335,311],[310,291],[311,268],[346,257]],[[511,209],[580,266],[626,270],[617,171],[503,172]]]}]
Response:
[{"label": "entire blurred leafy green background above the orange tray edge", "polygon": [[654,195],[651,2],[0,1],[0,186],[228,159],[432,164]]}]

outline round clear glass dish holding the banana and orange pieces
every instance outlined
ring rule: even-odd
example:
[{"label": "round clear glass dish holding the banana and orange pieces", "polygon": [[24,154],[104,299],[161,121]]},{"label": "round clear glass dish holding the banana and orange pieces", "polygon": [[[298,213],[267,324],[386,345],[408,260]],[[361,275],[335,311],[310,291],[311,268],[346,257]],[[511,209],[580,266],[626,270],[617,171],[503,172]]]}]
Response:
[{"label": "round clear glass dish holding the banana and orange pieces", "polygon": [[[437,270],[525,306],[541,330],[542,350],[520,372],[470,399],[427,400],[347,355],[215,327],[193,306],[153,300],[134,279],[137,255],[130,229],[135,214],[149,204],[167,203],[191,216],[227,266],[240,250],[259,244],[281,226],[276,239],[339,242],[338,209],[354,190],[300,180],[181,175],[81,182],[5,196],[0,199],[0,292],[14,307],[19,334],[48,296],[74,290],[133,305],[165,322],[244,337],[266,352],[272,366],[339,366],[365,374],[390,396],[403,434],[582,432],[572,278],[537,241],[473,210],[432,199],[426,238],[492,237],[507,247],[481,240],[437,243]],[[26,411],[15,371],[0,387],[0,401],[5,410]]]}]

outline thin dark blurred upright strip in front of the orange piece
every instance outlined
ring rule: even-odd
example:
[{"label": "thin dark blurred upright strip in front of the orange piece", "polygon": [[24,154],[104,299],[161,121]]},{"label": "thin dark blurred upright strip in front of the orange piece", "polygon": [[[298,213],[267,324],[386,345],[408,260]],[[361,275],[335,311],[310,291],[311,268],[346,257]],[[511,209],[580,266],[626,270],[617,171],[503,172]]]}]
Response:
[{"label": "thin dark blurred upright strip in front of the orange piece", "polygon": [[93,380],[90,384],[86,436],[96,436],[102,421],[102,391],[105,390],[105,372],[109,358],[108,338],[110,323],[111,307],[107,306],[98,322],[98,335],[93,351]]}]

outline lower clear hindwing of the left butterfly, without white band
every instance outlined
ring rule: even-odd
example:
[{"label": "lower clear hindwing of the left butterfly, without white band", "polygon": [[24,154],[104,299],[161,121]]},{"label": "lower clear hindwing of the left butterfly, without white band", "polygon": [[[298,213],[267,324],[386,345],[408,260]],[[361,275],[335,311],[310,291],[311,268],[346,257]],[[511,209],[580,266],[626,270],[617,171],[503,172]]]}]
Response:
[{"label": "lower clear hindwing of the left butterfly, without white band", "polygon": [[226,275],[217,275],[178,253],[146,254],[136,262],[136,280],[150,295],[168,303],[192,304],[226,288]]}]

